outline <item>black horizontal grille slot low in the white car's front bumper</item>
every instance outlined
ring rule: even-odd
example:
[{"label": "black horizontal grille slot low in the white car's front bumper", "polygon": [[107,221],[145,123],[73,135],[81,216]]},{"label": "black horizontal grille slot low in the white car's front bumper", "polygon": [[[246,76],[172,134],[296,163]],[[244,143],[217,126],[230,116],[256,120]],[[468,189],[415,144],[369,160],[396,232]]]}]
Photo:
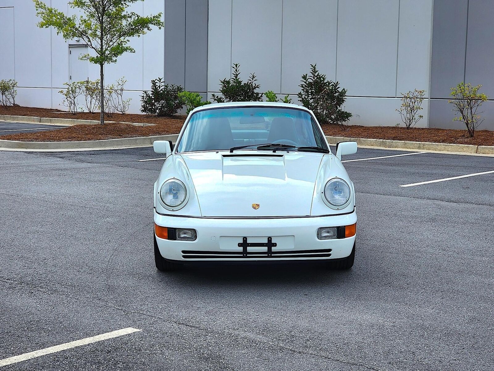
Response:
[{"label": "black horizontal grille slot low in the white car's front bumper", "polygon": [[273,251],[271,256],[267,251],[194,251],[182,250],[184,259],[256,259],[256,258],[329,258],[331,249]]}]

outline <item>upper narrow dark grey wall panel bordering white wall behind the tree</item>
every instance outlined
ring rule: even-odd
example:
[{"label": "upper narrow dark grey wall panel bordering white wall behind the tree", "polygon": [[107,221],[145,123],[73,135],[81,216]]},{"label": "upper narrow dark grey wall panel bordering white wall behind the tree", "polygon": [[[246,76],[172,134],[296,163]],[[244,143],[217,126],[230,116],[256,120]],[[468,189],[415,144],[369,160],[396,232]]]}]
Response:
[{"label": "upper narrow dark grey wall panel bordering white wall behind the tree", "polygon": [[165,81],[185,84],[184,0],[165,0]]}]

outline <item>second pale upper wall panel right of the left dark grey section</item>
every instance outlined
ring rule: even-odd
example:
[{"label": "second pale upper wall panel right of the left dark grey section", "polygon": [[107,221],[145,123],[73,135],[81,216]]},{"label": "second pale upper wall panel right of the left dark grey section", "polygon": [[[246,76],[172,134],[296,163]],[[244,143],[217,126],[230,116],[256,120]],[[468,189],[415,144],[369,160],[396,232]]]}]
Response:
[{"label": "second pale upper wall panel right of the left dark grey section", "polygon": [[255,73],[261,91],[281,84],[282,0],[233,0],[232,63],[240,63],[243,80]]}]

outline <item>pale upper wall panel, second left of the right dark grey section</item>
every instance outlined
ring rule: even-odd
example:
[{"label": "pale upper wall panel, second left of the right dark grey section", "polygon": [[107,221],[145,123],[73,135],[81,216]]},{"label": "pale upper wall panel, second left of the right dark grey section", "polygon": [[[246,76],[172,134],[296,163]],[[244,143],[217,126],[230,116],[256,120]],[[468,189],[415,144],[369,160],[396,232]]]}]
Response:
[{"label": "pale upper wall panel, second left of the right dark grey section", "polygon": [[336,79],[349,95],[395,96],[399,1],[338,5]]}]

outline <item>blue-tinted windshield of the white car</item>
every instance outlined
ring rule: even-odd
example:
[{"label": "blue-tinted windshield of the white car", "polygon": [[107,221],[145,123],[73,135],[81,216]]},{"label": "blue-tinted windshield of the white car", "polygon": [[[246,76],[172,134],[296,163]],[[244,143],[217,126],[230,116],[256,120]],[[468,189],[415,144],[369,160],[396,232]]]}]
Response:
[{"label": "blue-tinted windshield of the white car", "polygon": [[231,107],[196,112],[177,152],[228,150],[236,146],[276,143],[328,149],[311,115],[286,107]]}]

